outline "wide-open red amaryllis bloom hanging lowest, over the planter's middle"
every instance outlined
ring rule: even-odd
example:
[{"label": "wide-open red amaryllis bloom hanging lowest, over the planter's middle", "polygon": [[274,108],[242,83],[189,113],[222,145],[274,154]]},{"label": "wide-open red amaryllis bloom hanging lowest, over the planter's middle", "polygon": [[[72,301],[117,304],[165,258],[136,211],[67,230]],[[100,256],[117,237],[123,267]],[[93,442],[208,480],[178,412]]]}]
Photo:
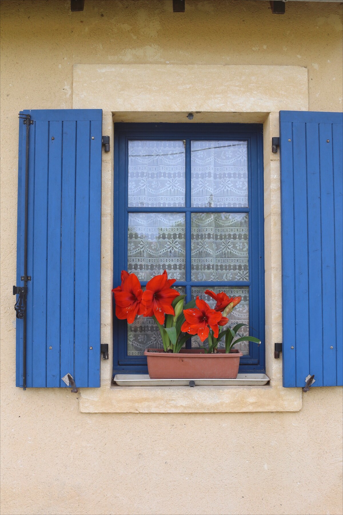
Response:
[{"label": "wide-open red amaryllis bloom hanging lowest, over the planter's middle", "polygon": [[214,338],[218,338],[219,325],[225,325],[229,320],[222,317],[218,311],[211,310],[210,306],[204,300],[196,297],[196,308],[184,310],[186,321],[181,326],[181,331],[189,334],[197,334],[201,341],[206,340],[210,332],[209,327],[213,330]]}]

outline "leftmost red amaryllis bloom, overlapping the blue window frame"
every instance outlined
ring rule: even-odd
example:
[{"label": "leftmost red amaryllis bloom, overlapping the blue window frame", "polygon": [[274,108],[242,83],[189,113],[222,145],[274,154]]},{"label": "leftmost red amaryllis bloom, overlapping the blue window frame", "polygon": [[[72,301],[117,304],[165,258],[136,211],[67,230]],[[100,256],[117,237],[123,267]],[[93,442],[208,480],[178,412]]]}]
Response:
[{"label": "leftmost red amaryllis bloom, overlapping the blue window frame", "polygon": [[138,277],[125,270],[121,272],[121,285],[113,290],[116,302],[116,316],[120,320],[128,319],[132,323],[136,315],[142,315],[146,306],[142,301],[143,290]]}]

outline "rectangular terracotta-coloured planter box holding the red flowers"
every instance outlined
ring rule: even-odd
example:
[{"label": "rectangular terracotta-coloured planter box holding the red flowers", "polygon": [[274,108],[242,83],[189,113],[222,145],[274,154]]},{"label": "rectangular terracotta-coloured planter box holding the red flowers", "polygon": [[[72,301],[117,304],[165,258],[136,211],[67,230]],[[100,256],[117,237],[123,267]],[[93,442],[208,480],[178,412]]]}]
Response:
[{"label": "rectangular terracotta-coloured planter box holding the red flowers", "polygon": [[182,349],[179,353],[156,352],[147,349],[151,379],[236,379],[243,353],[232,350],[225,354],[205,354],[201,349]]}]

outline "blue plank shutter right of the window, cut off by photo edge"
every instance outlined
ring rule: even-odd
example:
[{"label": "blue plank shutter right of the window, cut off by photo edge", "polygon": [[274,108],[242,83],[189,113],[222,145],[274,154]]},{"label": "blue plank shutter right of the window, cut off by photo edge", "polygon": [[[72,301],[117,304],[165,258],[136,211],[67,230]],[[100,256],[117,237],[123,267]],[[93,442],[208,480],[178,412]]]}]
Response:
[{"label": "blue plank shutter right of the window, cut off by photo edge", "polygon": [[343,384],[342,121],[280,111],[283,386]]}]

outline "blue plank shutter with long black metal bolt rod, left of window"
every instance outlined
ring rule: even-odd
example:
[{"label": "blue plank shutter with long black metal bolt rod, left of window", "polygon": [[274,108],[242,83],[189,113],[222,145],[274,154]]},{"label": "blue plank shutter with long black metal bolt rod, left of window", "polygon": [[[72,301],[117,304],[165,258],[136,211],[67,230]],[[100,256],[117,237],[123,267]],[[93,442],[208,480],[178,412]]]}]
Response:
[{"label": "blue plank shutter with long black metal bolt rod, left of window", "polygon": [[[98,109],[32,110],[29,128],[26,385],[100,386],[101,134]],[[20,119],[17,278],[23,285],[26,125]],[[23,386],[23,320],[16,319]]]}]

